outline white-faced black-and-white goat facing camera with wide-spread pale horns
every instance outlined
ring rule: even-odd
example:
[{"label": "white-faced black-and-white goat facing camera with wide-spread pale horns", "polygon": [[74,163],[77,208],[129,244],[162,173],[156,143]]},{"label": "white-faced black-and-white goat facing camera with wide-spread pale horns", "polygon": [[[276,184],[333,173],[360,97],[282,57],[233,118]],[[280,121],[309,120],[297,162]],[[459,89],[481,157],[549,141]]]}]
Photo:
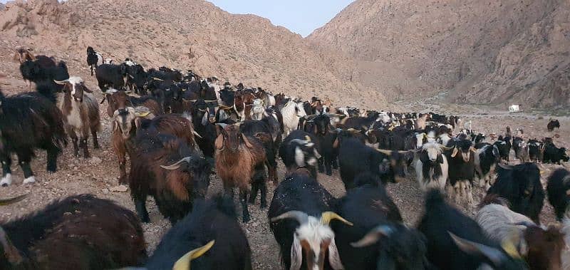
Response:
[{"label": "white-faced black-and-white goat facing camera with wide-spread pale horns", "polygon": [[415,163],[415,175],[423,192],[428,189],[445,189],[449,163],[443,155],[443,149],[443,145],[437,142],[427,142],[422,146],[420,157]]}]

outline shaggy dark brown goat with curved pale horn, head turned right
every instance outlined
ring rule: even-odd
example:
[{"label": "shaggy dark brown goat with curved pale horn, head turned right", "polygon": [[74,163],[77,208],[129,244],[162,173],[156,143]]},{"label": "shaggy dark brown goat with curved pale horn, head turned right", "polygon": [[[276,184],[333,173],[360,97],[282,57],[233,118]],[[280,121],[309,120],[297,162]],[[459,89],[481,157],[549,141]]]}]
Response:
[{"label": "shaggy dark brown goat with curved pale horn, head turned right", "polygon": [[186,140],[165,135],[157,123],[149,122],[153,125],[139,128],[130,155],[135,157],[130,161],[130,195],[142,222],[150,222],[146,209],[150,195],[160,213],[175,224],[192,209],[193,199],[205,197],[209,164]]}]

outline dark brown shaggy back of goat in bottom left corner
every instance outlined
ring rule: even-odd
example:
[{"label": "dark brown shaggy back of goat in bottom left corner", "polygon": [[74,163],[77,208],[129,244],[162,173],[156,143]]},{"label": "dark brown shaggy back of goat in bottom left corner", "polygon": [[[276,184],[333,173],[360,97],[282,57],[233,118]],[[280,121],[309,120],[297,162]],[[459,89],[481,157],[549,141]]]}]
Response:
[{"label": "dark brown shaggy back of goat in bottom left corner", "polygon": [[0,227],[0,269],[116,269],[146,257],[135,214],[90,194],[51,202]]}]

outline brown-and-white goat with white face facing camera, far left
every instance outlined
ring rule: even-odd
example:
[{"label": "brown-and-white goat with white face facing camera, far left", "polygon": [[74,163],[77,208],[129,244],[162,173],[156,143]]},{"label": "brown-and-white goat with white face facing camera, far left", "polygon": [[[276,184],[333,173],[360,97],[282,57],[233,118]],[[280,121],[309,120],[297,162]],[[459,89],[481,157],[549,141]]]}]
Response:
[{"label": "brown-and-white goat with white face facing camera, far left", "polygon": [[99,103],[93,95],[86,94],[93,92],[83,84],[83,79],[79,77],[72,76],[65,81],[55,82],[64,85],[63,93],[58,95],[58,108],[63,114],[63,126],[73,142],[73,152],[78,157],[79,147],[83,147],[83,157],[88,158],[89,132],[93,135],[93,148],[99,148],[97,140],[97,132],[101,129]]}]

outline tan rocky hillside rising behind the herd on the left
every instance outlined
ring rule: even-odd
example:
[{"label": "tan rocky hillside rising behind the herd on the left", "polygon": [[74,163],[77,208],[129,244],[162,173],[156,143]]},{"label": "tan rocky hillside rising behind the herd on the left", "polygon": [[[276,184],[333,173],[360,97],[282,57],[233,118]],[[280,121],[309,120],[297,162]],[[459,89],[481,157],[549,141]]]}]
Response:
[{"label": "tan rocky hillside rising behind the herd on the left", "polygon": [[[301,36],[259,16],[229,14],[207,1],[183,2],[10,3],[0,13],[0,35],[38,53],[71,59],[72,68],[86,68],[85,50],[93,46],[115,62],[132,57],[147,67],[193,69],[204,76],[303,98],[318,95],[340,101],[357,96],[356,85],[324,68],[329,57],[320,56]],[[377,108],[383,96],[375,96],[371,100],[358,95],[350,105],[368,103]]]}]

